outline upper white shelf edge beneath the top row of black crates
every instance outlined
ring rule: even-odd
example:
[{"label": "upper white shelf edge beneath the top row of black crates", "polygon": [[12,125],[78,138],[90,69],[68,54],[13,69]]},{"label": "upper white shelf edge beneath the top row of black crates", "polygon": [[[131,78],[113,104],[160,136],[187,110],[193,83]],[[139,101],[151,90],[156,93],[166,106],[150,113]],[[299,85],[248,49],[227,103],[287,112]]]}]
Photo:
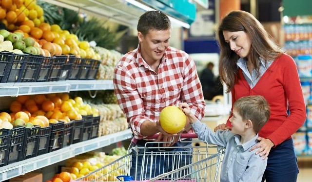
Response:
[{"label": "upper white shelf edge beneath the top row of black crates", "polygon": [[1,83],[0,97],[109,89],[114,89],[113,80]]}]

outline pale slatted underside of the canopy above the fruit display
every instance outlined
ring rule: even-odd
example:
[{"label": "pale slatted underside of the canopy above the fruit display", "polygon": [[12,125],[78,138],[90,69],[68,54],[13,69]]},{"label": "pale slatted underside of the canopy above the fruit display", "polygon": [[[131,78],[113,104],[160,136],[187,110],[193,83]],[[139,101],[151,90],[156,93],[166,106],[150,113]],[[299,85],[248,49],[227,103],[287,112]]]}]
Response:
[{"label": "pale slatted underside of the canopy above the fruit display", "polygon": [[[64,8],[136,27],[138,18],[146,11],[126,0],[43,0]],[[144,4],[143,1],[137,0]],[[149,6],[148,4],[144,4]],[[173,23],[175,26],[175,24]],[[178,25],[176,25],[178,26]]]}]

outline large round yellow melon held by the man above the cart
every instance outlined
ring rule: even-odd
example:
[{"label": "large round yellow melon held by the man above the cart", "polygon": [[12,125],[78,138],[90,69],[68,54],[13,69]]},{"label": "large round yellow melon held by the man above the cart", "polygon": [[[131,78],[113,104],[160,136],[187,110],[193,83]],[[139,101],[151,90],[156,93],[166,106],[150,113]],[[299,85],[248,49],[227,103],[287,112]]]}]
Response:
[{"label": "large round yellow melon held by the man above the cart", "polygon": [[186,115],[177,106],[167,106],[160,112],[159,122],[165,132],[174,134],[184,128]]}]

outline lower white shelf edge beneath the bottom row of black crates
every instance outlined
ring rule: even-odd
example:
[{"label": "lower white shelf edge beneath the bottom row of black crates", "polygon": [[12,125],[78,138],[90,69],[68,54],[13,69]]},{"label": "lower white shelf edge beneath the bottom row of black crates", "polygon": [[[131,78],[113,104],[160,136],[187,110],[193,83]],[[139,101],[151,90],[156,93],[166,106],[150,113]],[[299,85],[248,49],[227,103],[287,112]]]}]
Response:
[{"label": "lower white shelf edge beneath the bottom row of black crates", "polygon": [[30,158],[24,161],[15,162],[3,167],[0,167],[0,182],[8,180],[16,176],[24,175],[25,173],[37,170],[39,168],[64,161],[75,157],[78,154],[96,150],[108,146],[112,143],[130,139],[132,132],[130,129],[113,133],[110,135],[101,136],[95,139],[78,142],[65,148]]}]

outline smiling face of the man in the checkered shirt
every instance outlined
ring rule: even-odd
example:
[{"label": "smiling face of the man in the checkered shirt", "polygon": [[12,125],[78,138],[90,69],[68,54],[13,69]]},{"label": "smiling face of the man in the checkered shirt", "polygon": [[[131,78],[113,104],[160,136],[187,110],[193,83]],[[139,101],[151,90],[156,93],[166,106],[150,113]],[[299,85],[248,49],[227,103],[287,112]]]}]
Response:
[{"label": "smiling face of the man in the checkered shirt", "polygon": [[150,64],[163,57],[164,52],[169,47],[171,29],[150,30],[145,36],[138,32],[137,35],[140,41],[142,57]]}]

